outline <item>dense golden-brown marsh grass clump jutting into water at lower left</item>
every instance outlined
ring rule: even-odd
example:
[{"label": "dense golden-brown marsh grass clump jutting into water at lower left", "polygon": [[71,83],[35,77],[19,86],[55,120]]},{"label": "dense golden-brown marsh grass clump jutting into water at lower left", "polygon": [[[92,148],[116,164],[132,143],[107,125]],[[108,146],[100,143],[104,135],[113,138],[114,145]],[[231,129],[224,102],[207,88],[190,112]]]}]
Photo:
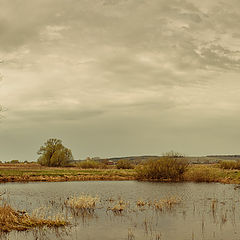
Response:
[{"label": "dense golden-brown marsh grass clump jutting into water at lower left", "polygon": [[2,232],[10,232],[12,230],[25,231],[43,226],[61,227],[65,225],[67,225],[67,221],[60,216],[45,219],[29,216],[24,211],[16,211],[7,204],[0,206],[0,231]]}]

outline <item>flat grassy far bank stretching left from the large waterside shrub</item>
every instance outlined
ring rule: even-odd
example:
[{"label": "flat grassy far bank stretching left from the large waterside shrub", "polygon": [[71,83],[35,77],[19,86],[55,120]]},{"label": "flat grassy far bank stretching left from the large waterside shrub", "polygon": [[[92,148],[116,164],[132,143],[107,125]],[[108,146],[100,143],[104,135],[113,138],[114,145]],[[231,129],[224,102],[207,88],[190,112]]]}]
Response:
[{"label": "flat grassy far bank stretching left from the large waterside shrub", "polygon": [[39,164],[1,164],[0,182],[133,180],[133,169],[79,169],[43,167]]}]

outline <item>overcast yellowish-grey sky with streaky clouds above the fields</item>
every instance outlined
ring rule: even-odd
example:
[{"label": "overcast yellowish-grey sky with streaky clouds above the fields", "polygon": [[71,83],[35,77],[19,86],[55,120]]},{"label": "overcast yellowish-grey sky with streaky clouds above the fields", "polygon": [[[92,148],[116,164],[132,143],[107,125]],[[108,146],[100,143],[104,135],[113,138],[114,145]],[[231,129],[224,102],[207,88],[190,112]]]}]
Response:
[{"label": "overcast yellowish-grey sky with streaky clouds above the fields", "polygon": [[0,0],[0,160],[240,153],[239,0]]}]

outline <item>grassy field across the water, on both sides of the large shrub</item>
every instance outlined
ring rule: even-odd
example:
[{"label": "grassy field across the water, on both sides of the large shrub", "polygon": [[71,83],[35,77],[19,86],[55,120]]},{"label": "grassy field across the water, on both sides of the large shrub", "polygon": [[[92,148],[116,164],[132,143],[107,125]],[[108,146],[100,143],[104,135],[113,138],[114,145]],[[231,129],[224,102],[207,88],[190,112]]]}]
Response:
[{"label": "grassy field across the water, on both sides of the large shrub", "polygon": [[[43,167],[39,164],[0,164],[0,182],[134,180],[135,169],[79,169]],[[166,181],[168,181],[166,179]],[[183,181],[240,184],[240,170],[221,169],[218,164],[191,164]]]}]

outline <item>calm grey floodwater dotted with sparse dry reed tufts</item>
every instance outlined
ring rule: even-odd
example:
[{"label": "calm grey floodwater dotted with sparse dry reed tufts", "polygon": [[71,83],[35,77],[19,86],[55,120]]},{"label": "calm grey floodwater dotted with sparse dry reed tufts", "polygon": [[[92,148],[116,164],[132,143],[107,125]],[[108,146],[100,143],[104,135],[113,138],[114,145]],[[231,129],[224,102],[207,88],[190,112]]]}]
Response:
[{"label": "calm grey floodwater dotted with sparse dry reed tufts", "polygon": [[[1,239],[237,240],[240,235],[240,189],[235,185],[41,182],[0,185],[5,191],[1,201],[13,208],[59,215],[69,225],[12,231]],[[91,207],[77,208],[83,199],[92,201]]]}]

